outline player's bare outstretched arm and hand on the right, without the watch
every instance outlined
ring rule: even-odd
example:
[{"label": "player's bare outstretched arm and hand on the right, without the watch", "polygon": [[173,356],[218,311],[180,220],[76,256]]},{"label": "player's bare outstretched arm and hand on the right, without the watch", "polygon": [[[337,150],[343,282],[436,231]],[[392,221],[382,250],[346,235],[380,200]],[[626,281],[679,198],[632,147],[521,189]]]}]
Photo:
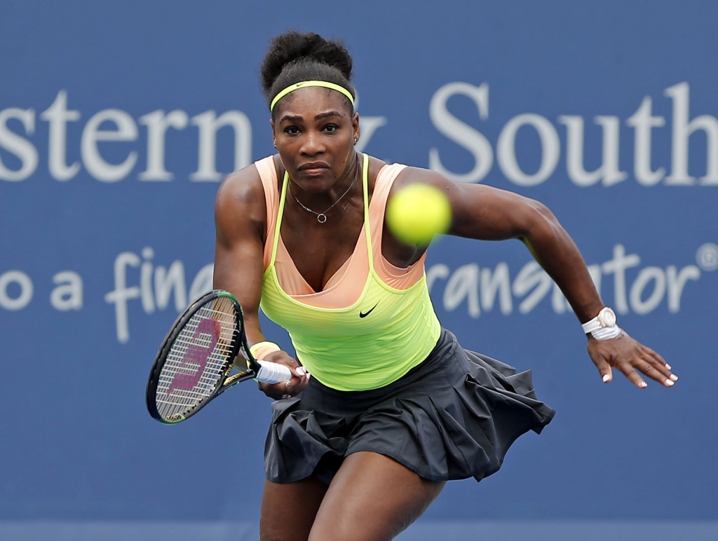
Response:
[{"label": "player's bare outstretched arm and hand on the right, without the watch", "polygon": [[[449,235],[477,240],[518,238],[561,288],[581,323],[604,308],[579,249],[544,204],[484,184],[452,182],[434,171],[412,169],[411,173],[405,179],[433,184],[447,194],[452,207]],[[604,382],[612,380],[612,367],[638,387],[647,385],[641,373],[666,387],[678,380],[660,355],[623,330],[612,339],[588,335],[588,352]]]}]

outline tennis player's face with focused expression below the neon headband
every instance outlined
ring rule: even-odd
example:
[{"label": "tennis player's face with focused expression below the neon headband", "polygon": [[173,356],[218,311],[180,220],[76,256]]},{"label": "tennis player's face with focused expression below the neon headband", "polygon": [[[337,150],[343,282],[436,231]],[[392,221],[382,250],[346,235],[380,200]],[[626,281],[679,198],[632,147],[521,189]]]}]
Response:
[{"label": "tennis player's face with focused expression below the neon headband", "polygon": [[282,98],[272,121],[276,149],[289,177],[322,192],[348,174],[359,137],[359,115],[328,88],[300,88]]}]

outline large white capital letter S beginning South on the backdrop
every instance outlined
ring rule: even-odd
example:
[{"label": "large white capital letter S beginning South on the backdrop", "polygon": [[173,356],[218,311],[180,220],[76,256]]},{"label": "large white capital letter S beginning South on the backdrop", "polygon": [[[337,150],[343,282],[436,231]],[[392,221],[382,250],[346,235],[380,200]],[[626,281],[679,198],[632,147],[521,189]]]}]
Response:
[{"label": "large white capital letter S beginning South on the backdrop", "polygon": [[479,87],[475,87],[469,83],[449,83],[434,93],[429,104],[429,117],[434,126],[473,154],[474,169],[466,174],[452,173],[443,166],[439,158],[439,150],[435,148],[429,149],[429,169],[438,171],[455,182],[481,182],[493,165],[493,149],[482,133],[449,113],[447,101],[455,94],[465,95],[474,100],[480,118],[486,120],[489,116],[489,85],[481,83]]}]

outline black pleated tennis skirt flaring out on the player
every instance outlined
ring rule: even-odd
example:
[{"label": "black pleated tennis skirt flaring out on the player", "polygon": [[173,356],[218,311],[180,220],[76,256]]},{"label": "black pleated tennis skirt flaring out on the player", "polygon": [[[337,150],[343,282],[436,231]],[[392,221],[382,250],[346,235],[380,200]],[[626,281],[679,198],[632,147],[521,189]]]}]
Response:
[{"label": "black pleated tennis skirt flaring out on the player", "polygon": [[339,391],[312,378],[296,397],[272,403],[272,413],[267,479],[316,474],[329,484],[357,451],[389,456],[433,481],[480,481],[518,436],[540,433],[556,412],[536,399],[530,371],[463,349],[444,329],[424,362],[385,387]]}]

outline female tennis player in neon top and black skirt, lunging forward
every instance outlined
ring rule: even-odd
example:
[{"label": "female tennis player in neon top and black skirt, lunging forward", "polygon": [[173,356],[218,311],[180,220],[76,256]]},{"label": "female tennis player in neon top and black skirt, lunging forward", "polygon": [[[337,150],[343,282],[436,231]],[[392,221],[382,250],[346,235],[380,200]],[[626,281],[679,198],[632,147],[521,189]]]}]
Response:
[{"label": "female tennis player in neon top and black skirt, lunging forward", "polygon": [[[605,382],[678,378],[621,330],[579,250],[544,205],[355,150],[352,59],[338,42],[288,32],[261,70],[277,154],[219,189],[215,288],[243,306],[257,359],[293,377],[260,384],[276,401],[265,448],[265,541],[390,540],[445,481],[493,474],[518,436],[554,410],[529,372],[463,349],[442,329],[425,248],[394,237],[388,200],[409,184],[449,198],[450,235],[519,238],[564,292]],[[297,359],[262,334],[258,309],[289,331]],[[311,374],[311,377],[309,377]]]}]

